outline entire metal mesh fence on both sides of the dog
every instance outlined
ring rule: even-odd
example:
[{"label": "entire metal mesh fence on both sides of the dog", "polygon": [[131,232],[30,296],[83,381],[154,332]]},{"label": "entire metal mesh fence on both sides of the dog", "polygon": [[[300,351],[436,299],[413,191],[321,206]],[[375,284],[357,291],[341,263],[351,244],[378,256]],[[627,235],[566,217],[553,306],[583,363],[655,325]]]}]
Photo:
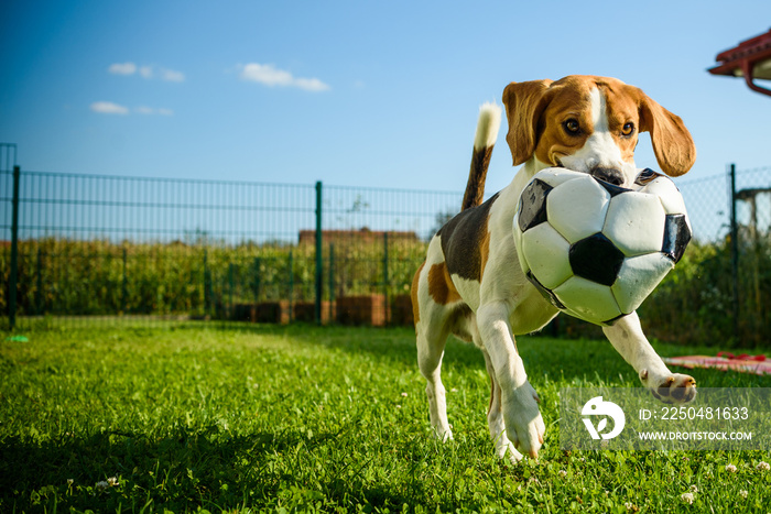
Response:
[{"label": "entire metal mesh fence on both sides of the dog", "polygon": [[[18,168],[14,183],[13,164],[8,153],[0,163],[6,327],[85,317],[410,324],[413,273],[463,195]],[[736,173],[734,195],[728,176],[677,183],[698,248],[684,272],[697,278],[714,265],[719,278],[677,302],[717,309],[729,320],[720,337],[757,341],[771,333],[771,168]],[[698,319],[706,337],[714,327]]]}]

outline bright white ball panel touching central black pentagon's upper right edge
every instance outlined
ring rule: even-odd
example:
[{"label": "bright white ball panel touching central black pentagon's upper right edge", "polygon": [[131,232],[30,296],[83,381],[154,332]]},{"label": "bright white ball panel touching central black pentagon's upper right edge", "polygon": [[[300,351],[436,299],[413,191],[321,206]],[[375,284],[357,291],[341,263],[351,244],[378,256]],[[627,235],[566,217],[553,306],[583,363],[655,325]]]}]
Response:
[{"label": "bright white ball panel touching central black pentagon's upper right edge", "polygon": [[658,196],[623,193],[610,203],[602,233],[627,256],[650,253],[661,249],[665,218]]}]

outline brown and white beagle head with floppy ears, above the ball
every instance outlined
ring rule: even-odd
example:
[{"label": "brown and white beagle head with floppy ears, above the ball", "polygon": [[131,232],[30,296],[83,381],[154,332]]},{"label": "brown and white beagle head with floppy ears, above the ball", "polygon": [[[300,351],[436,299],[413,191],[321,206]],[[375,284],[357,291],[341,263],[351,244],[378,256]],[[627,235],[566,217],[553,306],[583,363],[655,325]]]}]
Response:
[{"label": "brown and white beagle head with floppy ears, above the ball", "polygon": [[536,171],[565,166],[628,186],[637,175],[640,132],[650,132],[659,166],[670,176],[683,175],[696,160],[683,120],[615,78],[511,83],[503,103],[515,166],[534,158]]}]

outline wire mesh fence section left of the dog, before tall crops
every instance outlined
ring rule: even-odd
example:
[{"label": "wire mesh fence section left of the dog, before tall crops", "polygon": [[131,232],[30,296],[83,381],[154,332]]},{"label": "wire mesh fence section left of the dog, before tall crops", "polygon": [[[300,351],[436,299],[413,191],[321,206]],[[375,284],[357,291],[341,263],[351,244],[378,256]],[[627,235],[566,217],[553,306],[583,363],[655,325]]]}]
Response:
[{"label": "wire mesh fence section left of the dog, before tall crops", "polygon": [[[330,186],[317,204],[321,184],[23,172],[12,270],[12,171],[0,172],[0,185],[2,275],[8,285],[15,272],[19,322],[314,321],[317,270],[323,321],[409,322],[402,296],[436,212],[460,201]],[[9,289],[0,292],[7,324]]]}]

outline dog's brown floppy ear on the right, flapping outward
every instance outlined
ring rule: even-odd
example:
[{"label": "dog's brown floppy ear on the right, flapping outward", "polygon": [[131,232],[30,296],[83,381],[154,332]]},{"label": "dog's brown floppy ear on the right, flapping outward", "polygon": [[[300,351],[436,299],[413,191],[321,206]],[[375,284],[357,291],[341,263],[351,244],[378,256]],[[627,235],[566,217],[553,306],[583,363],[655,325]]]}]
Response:
[{"label": "dog's brown floppy ear on the right, flapping outward", "polygon": [[655,158],[671,177],[684,175],[696,161],[696,145],[678,117],[642,94],[640,132],[650,132]]}]

